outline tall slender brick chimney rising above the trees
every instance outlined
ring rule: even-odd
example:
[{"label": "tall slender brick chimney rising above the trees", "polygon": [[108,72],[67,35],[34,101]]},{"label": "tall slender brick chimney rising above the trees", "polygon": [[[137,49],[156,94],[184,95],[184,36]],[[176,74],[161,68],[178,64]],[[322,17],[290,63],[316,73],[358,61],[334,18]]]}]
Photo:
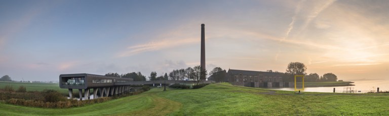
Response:
[{"label": "tall slender brick chimney rising above the trees", "polygon": [[206,80],[205,79],[205,29],[204,29],[204,24],[201,24],[201,80]]}]

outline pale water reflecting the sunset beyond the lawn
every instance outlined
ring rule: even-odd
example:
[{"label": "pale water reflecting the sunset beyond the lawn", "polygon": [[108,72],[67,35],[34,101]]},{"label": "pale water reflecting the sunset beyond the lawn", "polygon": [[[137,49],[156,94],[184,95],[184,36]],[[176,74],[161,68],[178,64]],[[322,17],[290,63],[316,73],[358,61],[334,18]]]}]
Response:
[{"label": "pale water reflecting the sunset beyond the lawn", "polygon": [[[377,87],[379,87],[379,91],[389,91],[389,81],[388,80],[363,80],[363,81],[353,81],[352,83],[355,86],[341,86],[341,87],[305,87],[305,92],[333,92],[335,88],[335,92],[343,92],[343,89],[346,87],[354,88],[358,93],[366,93],[370,91],[377,91]],[[274,90],[286,90],[286,91],[294,91],[294,88],[271,88]]]}]

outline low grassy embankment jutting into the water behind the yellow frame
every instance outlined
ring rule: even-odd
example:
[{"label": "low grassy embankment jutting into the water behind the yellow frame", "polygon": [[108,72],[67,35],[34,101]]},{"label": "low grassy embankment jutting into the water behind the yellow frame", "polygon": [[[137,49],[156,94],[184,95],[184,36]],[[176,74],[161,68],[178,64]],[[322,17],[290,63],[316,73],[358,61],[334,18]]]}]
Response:
[{"label": "low grassy embankment jutting into the water behind the yellow frame", "polygon": [[304,82],[305,87],[337,87],[337,86],[353,86],[354,82],[350,81],[335,81],[335,82]]}]

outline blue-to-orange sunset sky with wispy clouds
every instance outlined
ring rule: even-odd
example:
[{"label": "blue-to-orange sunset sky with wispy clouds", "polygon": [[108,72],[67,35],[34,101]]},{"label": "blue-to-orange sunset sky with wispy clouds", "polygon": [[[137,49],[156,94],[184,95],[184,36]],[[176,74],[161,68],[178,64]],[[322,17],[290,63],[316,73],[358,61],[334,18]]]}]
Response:
[{"label": "blue-to-orange sunset sky with wispy clouds", "polygon": [[389,79],[388,1],[0,1],[0,76],[206,68]]}]

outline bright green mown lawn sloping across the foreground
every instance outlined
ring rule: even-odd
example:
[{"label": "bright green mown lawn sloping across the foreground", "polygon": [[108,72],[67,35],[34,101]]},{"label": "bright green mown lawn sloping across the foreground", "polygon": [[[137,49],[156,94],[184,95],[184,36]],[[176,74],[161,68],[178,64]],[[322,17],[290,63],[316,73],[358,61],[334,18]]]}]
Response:
[{"label": "bright green mown lawn sloping across the foreground", "polygon": [[294,94],[228,83],[162,90],[67,109],[0,103],[0,115],[389,115],[389,94]]}]

